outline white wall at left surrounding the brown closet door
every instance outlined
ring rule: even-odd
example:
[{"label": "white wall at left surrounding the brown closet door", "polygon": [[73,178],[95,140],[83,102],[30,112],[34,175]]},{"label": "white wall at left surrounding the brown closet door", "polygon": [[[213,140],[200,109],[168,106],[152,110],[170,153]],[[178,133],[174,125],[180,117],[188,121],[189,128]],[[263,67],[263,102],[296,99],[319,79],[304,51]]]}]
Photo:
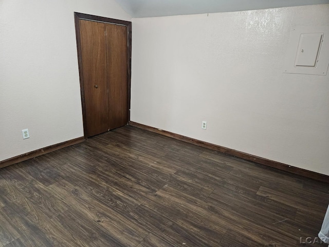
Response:
[{"label": "white wall at left surrounding the brown closet door", "polygon": [[131,21],[114,0],[0,0],[0,161],[83,136],[74,12]]}]

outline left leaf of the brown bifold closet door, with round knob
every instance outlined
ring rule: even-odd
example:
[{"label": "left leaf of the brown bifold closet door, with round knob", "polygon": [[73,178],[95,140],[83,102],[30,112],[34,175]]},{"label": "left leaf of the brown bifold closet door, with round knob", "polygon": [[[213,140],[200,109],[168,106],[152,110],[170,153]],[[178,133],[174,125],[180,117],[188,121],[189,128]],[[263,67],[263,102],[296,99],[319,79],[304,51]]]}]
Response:
[{"label": "left leaf of the brown bifold closet door, with round knob", "polygon": [[108,131],[105,24],[79,20],[87,137]]}]

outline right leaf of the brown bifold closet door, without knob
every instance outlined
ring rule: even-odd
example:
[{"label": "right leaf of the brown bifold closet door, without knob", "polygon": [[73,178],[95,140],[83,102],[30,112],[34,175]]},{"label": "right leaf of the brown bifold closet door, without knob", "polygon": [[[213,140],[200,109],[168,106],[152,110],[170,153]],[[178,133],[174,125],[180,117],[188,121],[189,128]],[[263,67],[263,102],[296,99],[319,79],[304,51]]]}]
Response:
[{"label": "right leaf of the brown bifold closet door, without knob", "polygon": [[105,24],[109,129],[128,122],[127,27]]}]

